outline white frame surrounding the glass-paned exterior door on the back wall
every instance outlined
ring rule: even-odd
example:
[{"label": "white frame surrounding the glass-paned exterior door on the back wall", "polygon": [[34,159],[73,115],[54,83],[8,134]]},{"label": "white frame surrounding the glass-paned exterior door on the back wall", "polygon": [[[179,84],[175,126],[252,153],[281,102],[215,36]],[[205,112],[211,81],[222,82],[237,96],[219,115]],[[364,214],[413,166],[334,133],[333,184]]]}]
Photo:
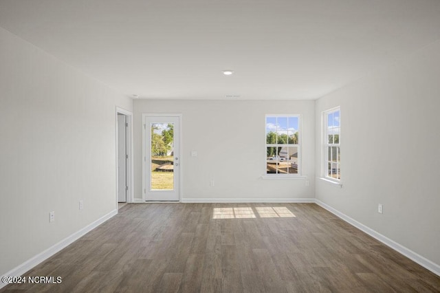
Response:
[{"label": "white frame surrounding the glass-paned exterior door on the back wall", "polygon": [[[179,120],[179,137],[177,138],[179,140],[179,153],[178,158],[179,158],[179,183],[177,184],[178,188],[179,188],[179,201],[181,202],[182,199],[182,168],[181,168],[181,164],[182,164],[182,156],[181,154],[183,153],[182,151],[182,143],[181,143],[181,120],[182,120],[182,114],[181,113],[142,113],[142,202],[145,203],[151,203],[146,202],[146,117],[176,117]],[[173,201],[167,201],[167,202],[173,202]]]}]

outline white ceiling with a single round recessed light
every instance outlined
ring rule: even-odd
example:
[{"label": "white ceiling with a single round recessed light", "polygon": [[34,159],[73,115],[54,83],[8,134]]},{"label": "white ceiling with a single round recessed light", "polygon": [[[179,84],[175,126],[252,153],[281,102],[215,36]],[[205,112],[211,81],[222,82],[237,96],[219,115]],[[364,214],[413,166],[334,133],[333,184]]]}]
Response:
[{"label": "white ceiling with a single round recessed light", "polygon": [[303,100],[439,40],[440,1],[0,0],[0,26],[127,96]]}]

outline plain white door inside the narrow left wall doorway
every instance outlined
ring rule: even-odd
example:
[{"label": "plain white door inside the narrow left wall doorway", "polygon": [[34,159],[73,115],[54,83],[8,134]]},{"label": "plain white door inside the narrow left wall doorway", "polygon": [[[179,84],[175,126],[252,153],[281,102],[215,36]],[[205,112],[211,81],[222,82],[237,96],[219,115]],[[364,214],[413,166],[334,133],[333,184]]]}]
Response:
[{"label": "plain white door inside the narrow left wall doorway", "polygon": [[118,202],[126,202],[126,116],[118,114]]}]

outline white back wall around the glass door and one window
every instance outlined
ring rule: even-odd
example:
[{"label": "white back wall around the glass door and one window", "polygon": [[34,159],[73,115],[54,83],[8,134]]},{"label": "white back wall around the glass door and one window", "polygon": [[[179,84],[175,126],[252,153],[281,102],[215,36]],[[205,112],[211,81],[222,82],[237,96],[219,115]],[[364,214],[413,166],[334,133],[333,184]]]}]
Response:
[{"label": "white back wall around the glass door and one window", "polygon": [[[142,113],[181,113],[183,199],[186,201],[314,198],[314,101],[135,100],[135,198],[142,199]],[[265,114],[303,116],[303,175],[262,180]],[[190,152],[197,151],[197,157]],[[214,186],[210,186],[210,180]]]}]

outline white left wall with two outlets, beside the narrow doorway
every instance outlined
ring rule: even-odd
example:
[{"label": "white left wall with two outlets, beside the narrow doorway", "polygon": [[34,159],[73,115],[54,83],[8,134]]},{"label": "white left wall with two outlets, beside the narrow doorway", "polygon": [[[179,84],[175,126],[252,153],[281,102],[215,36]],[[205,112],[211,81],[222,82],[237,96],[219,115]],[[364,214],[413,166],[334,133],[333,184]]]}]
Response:
[{"label": "white left wall with two outlets, beside the narrow doorway", "polygon": [[0,28],[0,274],[115,210],[116,105],[132,111]]}]

